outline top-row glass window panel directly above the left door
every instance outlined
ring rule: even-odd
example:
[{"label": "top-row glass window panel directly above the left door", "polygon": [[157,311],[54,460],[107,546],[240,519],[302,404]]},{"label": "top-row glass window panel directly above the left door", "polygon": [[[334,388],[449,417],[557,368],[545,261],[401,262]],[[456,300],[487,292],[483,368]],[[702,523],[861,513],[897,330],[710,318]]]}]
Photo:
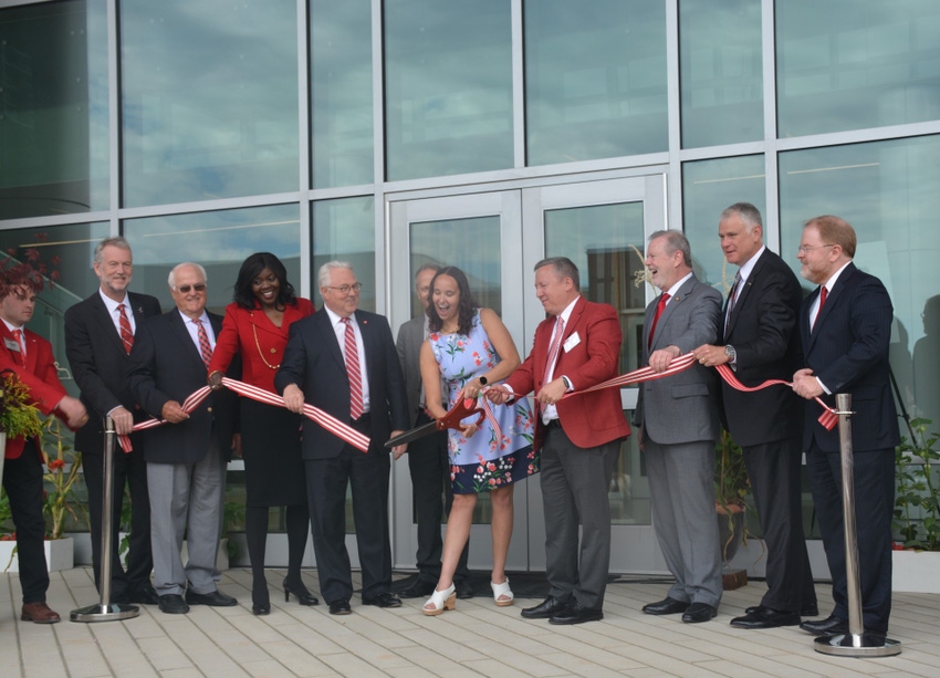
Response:
[{"label": "top-row glass window panel directly above the left door", "polygon": [[385,3],[389,180],[512,167],[510,7]]}]

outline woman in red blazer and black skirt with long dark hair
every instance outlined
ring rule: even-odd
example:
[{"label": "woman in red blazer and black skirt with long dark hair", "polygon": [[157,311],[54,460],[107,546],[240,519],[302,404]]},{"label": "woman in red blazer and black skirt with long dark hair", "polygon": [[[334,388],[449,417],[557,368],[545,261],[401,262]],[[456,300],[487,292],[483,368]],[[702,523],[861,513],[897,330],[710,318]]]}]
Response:
[{"label": "woman in red blazer and black skirt with long dark hair", "polygon": [[[234,285],[234,301],[226,307],[222,331],[209,364],[209,384],[218,387],[236,354],[242,363],[242,380],[274,390],[274,374],[281,366],[291,323],[311,315],[310,300],[297,298],[288,282],[284,264],[270,252],[244,260]],[[303,460],[301,417],[274,405],[240,398],[241,447],[244,459],[244,530],[251,559],[251,611],[271,612],[264,578],[264,547],[271,507],[286,505],[288,576],[284,601],[293,593],[301,605],[316,605],[301,580],[310,510]]]}]

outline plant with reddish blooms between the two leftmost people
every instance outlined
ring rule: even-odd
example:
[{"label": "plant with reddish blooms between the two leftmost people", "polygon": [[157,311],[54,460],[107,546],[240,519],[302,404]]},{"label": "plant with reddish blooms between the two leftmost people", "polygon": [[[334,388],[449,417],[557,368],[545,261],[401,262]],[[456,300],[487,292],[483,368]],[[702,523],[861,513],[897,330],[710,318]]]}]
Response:
[{"label": "plant with reddish blooms between the two leftmost people", "polygon": [[[49,539],[61,539],[66,517],[87,523],[87,514],[82,507],[71,501],[72,488],[79,479],[82,453],[66,445],[62,436],[62,424],[50,417],[43,426],[40,438],[42,456],[49,471],[43,477],[43,513],[46,517]],[[80,515],[81,514],[81,515]]]}]

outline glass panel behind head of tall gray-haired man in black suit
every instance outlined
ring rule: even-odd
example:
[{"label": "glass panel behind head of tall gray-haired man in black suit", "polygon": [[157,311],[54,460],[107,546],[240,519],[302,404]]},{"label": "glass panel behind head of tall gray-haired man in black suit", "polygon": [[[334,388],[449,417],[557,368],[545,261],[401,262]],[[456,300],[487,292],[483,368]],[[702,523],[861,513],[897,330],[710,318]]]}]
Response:
[{"label": "glass panel behind head of tall gray-haired man in black suit", "polygon": [[[682,223],[698,279],[727,294],[738,267],[729,265],[718,240],[725,207],[750,202],[766,219],[764,156],[749,155],[682,165]],[[766,243],[766,234],[764,237]]]}]

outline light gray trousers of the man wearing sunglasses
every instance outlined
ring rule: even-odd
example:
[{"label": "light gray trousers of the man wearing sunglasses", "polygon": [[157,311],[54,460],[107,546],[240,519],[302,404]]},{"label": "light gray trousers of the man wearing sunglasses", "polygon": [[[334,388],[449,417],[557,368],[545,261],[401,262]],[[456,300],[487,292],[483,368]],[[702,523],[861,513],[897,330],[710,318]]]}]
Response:
[{"label": "light gray trousers of the man wearing sunglasses", "polygon": [[[147,462],[154,588],[159,595],[216,591],[226,463],[212,444],[197,463]],[[189,554],[184,565],[182,538]]]}]

